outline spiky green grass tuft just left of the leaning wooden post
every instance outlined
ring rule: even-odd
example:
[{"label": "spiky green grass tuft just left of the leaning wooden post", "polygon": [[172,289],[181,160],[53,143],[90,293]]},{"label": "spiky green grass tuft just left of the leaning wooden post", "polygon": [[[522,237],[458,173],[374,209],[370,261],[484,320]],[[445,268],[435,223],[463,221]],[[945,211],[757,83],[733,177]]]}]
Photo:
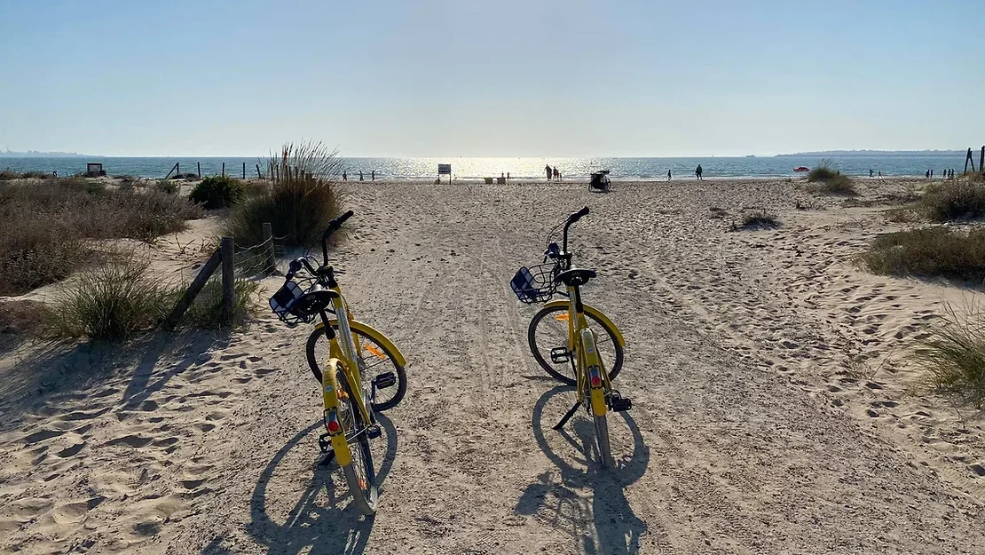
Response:
[{"label": "spiky green grass tuft just left of the leaning wooden post", "polygon": [[55,330],[71,337],[118,339],[164,319],[171,296],[147,275],[148,262],[130,256],[86,270],[56,298]]}]

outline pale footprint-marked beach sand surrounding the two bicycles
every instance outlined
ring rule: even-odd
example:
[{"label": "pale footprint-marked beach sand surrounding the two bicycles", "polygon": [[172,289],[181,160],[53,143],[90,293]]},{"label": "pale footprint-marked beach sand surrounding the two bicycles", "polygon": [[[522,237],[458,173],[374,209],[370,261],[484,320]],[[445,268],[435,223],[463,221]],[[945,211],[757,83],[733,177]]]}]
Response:
[{"label": "pale footprint-marked beach sand surrounding the two bicycles", "polygon": [[[783,180],[350,183],[336,265],[409,361],[374,448],[377,516],[316,466],[309,330],[261,312],[227,335],[0,353],[0,550],[981,553],[982,418],[921,388],[909,356],[974,292],[860,270],[913,185],[860,186],[873,205]],[[551,430],[572,394],[508,288],[586,204],[575,260],[625,334],[633,400],[611,418],[613,470],[586,461],[587,420]],[[782,226],[729,231],[760,208]]]}]

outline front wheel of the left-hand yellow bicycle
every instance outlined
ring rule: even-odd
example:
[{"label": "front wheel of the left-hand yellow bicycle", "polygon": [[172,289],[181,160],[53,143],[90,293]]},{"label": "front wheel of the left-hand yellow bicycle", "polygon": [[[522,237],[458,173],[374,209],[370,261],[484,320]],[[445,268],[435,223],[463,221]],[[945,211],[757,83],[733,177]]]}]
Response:
[{"label": "front wheel of the left-hand yellow bicycle", "polygon": [[[333,326],[333,328],[336,333],[339,333],[338,327]],[[360,339],[360,354],[357,364],[360,365],[362,390],[372,391],[372,382],[381,374],[392,372],[396,378],[393,385],[376,389],[373,410],[384,411],[397,406],[397,403],[404,398],[404,394],[407,392],[407,371],[397,364],[397,359],[386,347],[377,343],[372,337],[360,330],[354,329],[353,333],[359,335]],[[321,383],[321,369],[318,363],[321,361],[324,364],[328,360],[328,345],[328,337],[325,336],[324,329],[316,328],[311,332],[311,335],[308,335],[305,348],[308,368],[311,369],[311,374],[314,375],[314,379],[318,383]]]}]

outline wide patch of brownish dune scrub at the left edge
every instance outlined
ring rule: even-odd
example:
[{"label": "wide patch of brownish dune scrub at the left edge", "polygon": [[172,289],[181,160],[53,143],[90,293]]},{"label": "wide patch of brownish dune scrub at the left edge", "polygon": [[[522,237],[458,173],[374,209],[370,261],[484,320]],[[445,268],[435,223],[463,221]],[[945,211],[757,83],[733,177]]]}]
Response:
[{"label": "wide patch of brownish dune scrub at the left edge", "polygon": [[64,279],[94,256],[89,240],[155,238],[201,217],[186,199],[78,177],[0,183],[0,295]]}]

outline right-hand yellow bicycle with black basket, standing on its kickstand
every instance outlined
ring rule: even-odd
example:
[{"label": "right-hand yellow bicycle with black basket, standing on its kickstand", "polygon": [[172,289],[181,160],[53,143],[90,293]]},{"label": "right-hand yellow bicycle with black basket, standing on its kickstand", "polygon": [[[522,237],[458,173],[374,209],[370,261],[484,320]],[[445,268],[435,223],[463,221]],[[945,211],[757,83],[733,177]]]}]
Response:
[{"label": "right-hand yellow bicycle with black basket, standing on its kickstand", "polygon": [[[612,385],[623,368],[623,334],[603,312],[582,302],[581,287],[594,279],[596,273],[595,270],[573,267],[571,252],[567,249],[568,228],[587,214],[586,206],[563,222],[560,248],[558,243],[552,242],[560,225],[552,230],[544,253],[546,263],[520,268],[510,281],[510,287],[523,303],[548,302],[531,319],[527,341],[544,370],[560,382],[575,386],[577,400],[555,425],[555,430],[560,430],[578,408],[584,406],[595,423],[602,465],[611,466],[614,462],[606,414],[609,410],[628,410],[632,402]],[[551,262],[547,263],[548,260]],[[549,302],[558,294],[558,284],[566,287],[566,293],[561,295],[567,300]],[[548,358],[551,364],[548,364]]]}]

